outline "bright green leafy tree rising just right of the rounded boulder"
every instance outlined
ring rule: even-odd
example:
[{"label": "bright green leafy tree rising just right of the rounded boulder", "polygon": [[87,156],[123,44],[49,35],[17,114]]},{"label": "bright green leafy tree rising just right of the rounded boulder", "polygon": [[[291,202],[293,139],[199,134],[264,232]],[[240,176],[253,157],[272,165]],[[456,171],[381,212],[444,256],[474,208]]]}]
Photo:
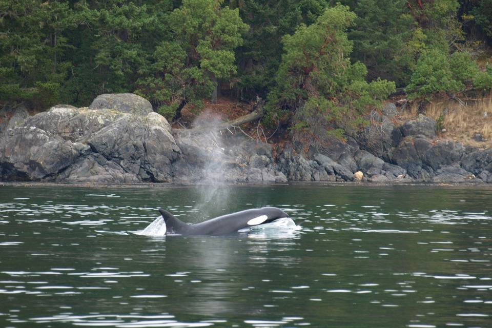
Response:
[{"label": "bright green leafy tree rising just right of the rounded boulder", "polygon": [[170,113],[184,103],[210,97],[217,78],[236,73],[234,49],[242,44],[242,23],[237,9],[221,7],[222,0],[185,0],[169,15],[173,40],[158,44],[137,92],[159,112]]}]

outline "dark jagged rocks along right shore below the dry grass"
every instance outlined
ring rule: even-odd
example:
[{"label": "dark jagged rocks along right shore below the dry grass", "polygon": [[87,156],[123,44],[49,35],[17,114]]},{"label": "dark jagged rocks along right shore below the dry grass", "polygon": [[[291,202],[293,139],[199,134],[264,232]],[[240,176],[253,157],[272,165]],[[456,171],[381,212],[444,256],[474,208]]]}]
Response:
[{"label": "dark jagged rocks along right shore below the dry grass", "polygon": [[[357,140],[333,141],[304,156],[287,149],[279,167],[289,179],[304,181],[348,181],[361,172],[363,180],[375,182],[492,182],[492,149],[439,140],[436,122],[423,115],[395,126],[397,113],[393,104],[373,113],[373,124]],[[302,153],[300,147],[297,151]]]}]

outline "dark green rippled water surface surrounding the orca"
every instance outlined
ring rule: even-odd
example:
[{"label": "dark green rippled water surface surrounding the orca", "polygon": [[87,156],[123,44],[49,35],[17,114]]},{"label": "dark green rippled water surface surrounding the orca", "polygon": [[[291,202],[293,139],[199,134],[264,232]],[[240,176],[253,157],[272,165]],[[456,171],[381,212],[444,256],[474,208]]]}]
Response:
[{"label": "dark green rippled water surface surrounding the orca", "polygon": [[[227,203],[203,194],[0,187],[0,326],[490,326],[491,190],[229,187]],[[199,222],[261,206],[302,229],[128,233],[160,207]]]}]

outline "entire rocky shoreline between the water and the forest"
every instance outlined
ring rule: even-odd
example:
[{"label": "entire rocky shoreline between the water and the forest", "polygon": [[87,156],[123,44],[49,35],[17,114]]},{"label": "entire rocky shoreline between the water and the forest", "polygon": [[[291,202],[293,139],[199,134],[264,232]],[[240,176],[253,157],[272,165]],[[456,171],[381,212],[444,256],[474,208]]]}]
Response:
[{"label": "entire rocky shoreline between the water and the forest", "polygon": [[0,126],[0,181],[492,183],[492,149],[439,140],[425,116],[397,126],[396,115],[387,104],[357,138],[315,146],[293,134],[273,149],[234,131],[172,129],[146,99],[104,94]]}]

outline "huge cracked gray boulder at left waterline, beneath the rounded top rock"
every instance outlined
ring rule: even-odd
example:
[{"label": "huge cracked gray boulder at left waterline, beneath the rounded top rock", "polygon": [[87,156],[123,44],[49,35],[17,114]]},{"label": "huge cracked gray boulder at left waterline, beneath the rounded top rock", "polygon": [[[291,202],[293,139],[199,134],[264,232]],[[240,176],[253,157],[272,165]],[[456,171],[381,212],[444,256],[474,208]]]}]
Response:
[{"label": "huge cracked gray boulder at left waterline, beneath the rounded top rock", "polygon": [[172,182],[179,155],[171,126],[157,113],[56,106],[2,135],[0,177]]}]

